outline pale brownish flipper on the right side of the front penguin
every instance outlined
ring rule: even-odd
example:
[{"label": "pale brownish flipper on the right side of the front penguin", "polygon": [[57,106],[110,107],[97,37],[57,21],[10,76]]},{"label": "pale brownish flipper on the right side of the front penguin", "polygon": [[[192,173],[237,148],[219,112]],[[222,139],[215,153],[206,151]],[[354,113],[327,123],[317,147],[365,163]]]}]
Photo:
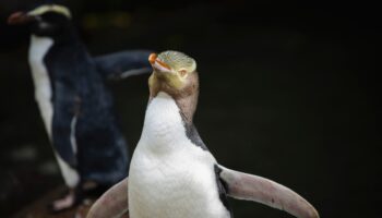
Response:
[{"label": "pale brownish flipper on the right side of the front penguin", "polygon": [[262,203],[285,210],[296,217],[320,217],[311,204],[282,184],[222,166],[218,166],[218,175],[227,189],[228,196]]}]

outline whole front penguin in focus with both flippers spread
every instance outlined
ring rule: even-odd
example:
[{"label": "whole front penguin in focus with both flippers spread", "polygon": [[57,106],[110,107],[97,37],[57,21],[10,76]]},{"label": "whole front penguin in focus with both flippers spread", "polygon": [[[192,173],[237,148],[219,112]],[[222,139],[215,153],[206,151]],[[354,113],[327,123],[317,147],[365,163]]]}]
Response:
[{"label": "whole front penguin in focus with both flippers spread", "polygon": [[199,96],[196,62],[179,51],[150,56],[154,69],[141,138],[129,178],[106,192],[88,218],[232,218],[227,197],[254,201],[296,217],[318,218],[314,207],[268,179],[217,162],[193,124]]}]

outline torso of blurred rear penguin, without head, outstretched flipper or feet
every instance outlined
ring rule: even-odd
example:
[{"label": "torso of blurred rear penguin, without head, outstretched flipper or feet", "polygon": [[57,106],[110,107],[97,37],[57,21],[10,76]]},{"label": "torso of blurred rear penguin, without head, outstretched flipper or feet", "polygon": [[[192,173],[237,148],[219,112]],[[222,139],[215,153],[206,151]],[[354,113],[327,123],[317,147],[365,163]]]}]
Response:
[{"label": "torso of blurred rear penguin, without head, outstretched flipper or feet", "polygon": [[67,185],[81,180],[111,185],[127,175],[127,144],[95,62],[69,22],[64,25],[60,35],[32,27],[37,28],[28,58],[35,98]]}]

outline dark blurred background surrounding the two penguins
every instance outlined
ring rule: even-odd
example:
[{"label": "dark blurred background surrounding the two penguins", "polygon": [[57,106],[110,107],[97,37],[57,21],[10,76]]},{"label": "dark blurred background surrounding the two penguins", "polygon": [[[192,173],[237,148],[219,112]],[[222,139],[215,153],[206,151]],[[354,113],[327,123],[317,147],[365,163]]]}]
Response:
[{"label": "dark blurred background surrounding the two penguins", "polygon": [[[28,33],[7,17],[39,1],[0,1],[0,217],[63,184],[27,65]],[[62,2],[61,2],[62,3]],[[195,124],[217,160],[285,184],[321,217],[380,217],[377,5],[278,1],[68,0],[94,56],[183,51],[198,61]],[[147,77],[109,83],[132,154]],[[236,217],[290,217],[231,201]]]}]

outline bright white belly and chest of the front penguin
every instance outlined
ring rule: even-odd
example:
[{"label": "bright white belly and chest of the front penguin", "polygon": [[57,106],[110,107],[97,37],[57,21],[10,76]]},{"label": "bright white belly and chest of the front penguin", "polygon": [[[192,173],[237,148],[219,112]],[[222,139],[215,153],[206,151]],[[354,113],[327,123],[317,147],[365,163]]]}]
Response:
[{"label": "bright white belly and chest of the front penguin", "polygon": [[129,172],[131,218],[228,218],[216,186],[216,160],[186,136],[175,101],[150,104]]}]

